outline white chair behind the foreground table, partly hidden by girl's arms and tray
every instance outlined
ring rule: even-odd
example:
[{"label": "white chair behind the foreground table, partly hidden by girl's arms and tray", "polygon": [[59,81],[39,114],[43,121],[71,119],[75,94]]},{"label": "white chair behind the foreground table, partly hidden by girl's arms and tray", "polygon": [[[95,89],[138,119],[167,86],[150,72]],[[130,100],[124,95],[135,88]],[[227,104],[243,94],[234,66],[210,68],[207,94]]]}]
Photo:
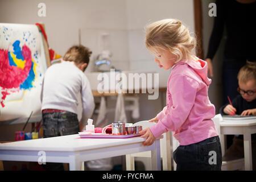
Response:
[{"label": "white chair behind the foreground table, partly hidden by girl's arms and tray", "polygon": [[[134,123],[133,126],[142,126],[142,129],[146,129],[155,125],[154,122],[148,121],[139,121]],[[170,138],[170,131],[163,134],[163,138],[160,139],[160,155],[163,161],[163,171],[171,171],[171,138]],[[126,155],[126,170],[127,171],[134,171],[134,157],[151,157],[151,151],[146,152],[138,152],[135,154],[128,154]]]}]

